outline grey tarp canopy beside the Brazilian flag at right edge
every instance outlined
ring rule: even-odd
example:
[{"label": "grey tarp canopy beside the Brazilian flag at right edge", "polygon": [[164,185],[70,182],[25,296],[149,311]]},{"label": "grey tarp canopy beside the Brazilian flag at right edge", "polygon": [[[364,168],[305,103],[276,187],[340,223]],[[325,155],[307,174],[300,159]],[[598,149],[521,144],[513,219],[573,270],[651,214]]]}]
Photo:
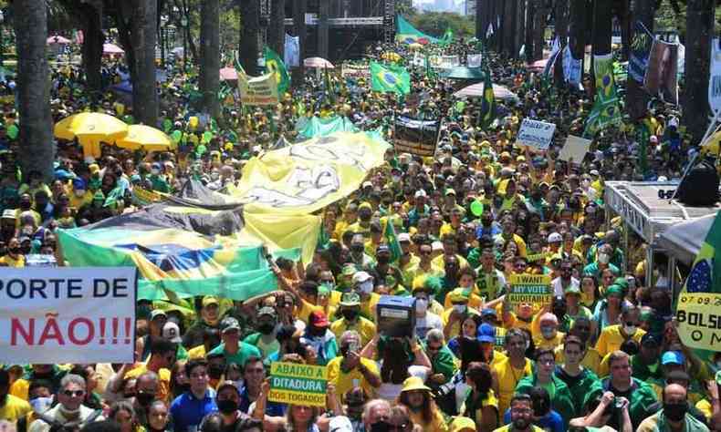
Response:
[{"label": "grey tarp canopy beside the Brazilian flag at right edge", "polygon": [[716,214],[709,214],[672,225],[659,235],[659,246],[676,260],[691,265],[715,219]]}]

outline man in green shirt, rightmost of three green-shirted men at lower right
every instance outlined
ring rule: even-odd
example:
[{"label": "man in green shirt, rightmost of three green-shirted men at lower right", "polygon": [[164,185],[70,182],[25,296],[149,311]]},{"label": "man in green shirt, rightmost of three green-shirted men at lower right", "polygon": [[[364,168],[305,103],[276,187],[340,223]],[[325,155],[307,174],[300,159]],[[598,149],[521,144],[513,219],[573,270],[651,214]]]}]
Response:
[{"label": "man in green shirt, rightmost of three green-shirted men at lower right", "polygon": [[[651,409],[657,402],[653,387],[632,376],[631,356],[623,351],[614,351],[609,356],[611,375],[601,381],[603,391],[611,391],[616,397],[625,397],[629,401],[629,415],[635,429],[644,418],[653,414]],[[610,427],[619,429],[611,418]]]}]

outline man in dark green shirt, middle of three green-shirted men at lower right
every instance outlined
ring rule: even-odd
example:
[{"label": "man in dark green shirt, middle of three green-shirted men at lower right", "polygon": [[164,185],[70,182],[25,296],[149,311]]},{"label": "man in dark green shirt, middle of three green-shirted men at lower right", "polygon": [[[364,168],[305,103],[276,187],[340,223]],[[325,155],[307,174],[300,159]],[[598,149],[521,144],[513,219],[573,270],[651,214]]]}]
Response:
[{"label": "man in dark green shirt, middle of three green-shirted men at lower right", "polygon": [[586,401],[601,395],[601,381],[589,369],[580,365],[586,355],[586,345],[579,336],[567,334],[563,340],[563,365],[556,366],[554,375],[569,386],[573,396],[574,416],[583,415]]}]

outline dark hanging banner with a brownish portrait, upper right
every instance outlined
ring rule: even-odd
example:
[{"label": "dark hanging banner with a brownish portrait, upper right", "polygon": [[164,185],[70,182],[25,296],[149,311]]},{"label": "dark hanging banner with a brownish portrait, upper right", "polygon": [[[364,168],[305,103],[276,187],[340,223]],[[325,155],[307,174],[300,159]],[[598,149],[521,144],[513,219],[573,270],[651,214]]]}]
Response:
[{"label": "dark hanging banner with a brownish portrait, upper right", "polygon": [[651,95],[660,95],[664,102],[678,103],[678,44],[654,39],[643,87]]}]

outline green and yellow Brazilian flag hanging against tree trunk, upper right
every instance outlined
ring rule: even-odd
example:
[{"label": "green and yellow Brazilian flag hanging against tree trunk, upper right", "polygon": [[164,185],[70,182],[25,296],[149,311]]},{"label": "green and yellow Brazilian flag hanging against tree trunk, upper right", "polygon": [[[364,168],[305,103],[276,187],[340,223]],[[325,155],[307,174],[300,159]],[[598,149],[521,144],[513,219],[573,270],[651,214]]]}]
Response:
[{"label": "green and yellow Brazilian flag hanging against tree trunk, upper right", "polygon": [[583,134],[592,136],[611,124],[622,121],[616,84],[613,81],[613,59],[611,54],[593,57],[596,72],[596,100],[586,119]]}]

